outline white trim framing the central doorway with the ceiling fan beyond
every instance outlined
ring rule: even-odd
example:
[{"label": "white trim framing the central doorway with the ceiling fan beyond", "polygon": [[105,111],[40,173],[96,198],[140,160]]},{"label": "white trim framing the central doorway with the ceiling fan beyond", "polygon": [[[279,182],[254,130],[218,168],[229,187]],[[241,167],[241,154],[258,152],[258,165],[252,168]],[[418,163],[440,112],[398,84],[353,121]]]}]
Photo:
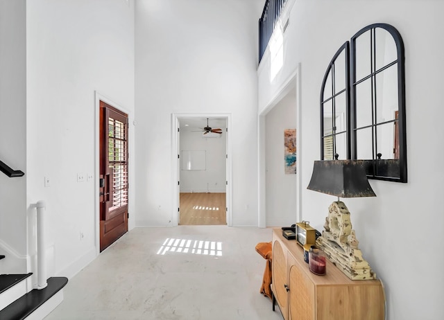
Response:
[{"label": "white trim framing the central doorway with the ceiling fan beyond", "polygon": [[232,226],[232,140],[231,140],[231,134],[230,131],[232,131],[231,126],[231,114],[225,114],[225,113],[189,113],[189,114],[171,114],[171,172],[173,172],[173,181],[171,183],[173,184],[173,213],[171,214],[171,225],[172,226],[178,226],[178,207],[179,207],[179,188],[178,188],[178,179],[179,179],[179,172],[178,172],[178,127],[179,127],[179,118],[226,118],[227,119],[227,128],[228,132],[225,132],[227,134],[227,154],[228,154],[228,161],[227,161],[227,173],[226,173],[226,179],[228,182],[228,186],[226,188],[226,206],[227,206],[227,225]]}]

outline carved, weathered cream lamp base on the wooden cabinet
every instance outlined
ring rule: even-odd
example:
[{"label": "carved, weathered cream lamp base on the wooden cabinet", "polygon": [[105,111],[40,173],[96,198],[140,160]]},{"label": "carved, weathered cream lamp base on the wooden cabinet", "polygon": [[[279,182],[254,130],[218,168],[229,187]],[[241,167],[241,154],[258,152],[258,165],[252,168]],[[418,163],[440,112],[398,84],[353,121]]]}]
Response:
[{"label": "carved, weathered cream lamp base on the wooden cabinet", "polygon": [[316,240],[325,256],[352,280],[375,279],[376,274],[358,249],[355,230],[352,230],[350,211],[341,201],[333,202],[325,218],[324,231]]}]

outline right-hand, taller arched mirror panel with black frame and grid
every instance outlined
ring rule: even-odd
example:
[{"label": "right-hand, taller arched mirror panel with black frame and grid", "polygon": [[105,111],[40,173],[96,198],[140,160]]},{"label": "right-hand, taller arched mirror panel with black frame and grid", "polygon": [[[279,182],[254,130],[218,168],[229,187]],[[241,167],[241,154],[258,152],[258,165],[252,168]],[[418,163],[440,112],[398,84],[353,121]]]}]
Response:
[{"label": "right-hand, taller arched mirror panel with black frame and grid", "polygon": [[398,30],[372,24],[350,41],[351,159],[368,178],[407,182],[404,44]]}]

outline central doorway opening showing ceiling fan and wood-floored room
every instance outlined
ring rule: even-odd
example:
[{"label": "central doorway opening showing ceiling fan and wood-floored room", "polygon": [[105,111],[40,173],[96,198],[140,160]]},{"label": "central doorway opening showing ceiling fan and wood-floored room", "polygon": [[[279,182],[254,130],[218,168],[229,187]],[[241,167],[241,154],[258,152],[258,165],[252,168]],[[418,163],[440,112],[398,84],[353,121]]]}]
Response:
[{"label": "central doorway opening showing ceiling fan and wood-floored room", "polygon": [[230,225],[229,118],[173,115],[178,225]]}]

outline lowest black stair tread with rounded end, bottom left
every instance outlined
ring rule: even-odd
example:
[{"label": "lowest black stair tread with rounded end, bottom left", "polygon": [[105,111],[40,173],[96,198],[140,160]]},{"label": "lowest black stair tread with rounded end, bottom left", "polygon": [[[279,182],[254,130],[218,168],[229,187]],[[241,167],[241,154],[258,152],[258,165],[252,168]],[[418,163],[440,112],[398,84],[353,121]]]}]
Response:
[{"label": "lowest black stair tread with rounded end, bottom left", "polygon": [[22,320],[37,310],[43,303],[48,301],[54,294],[59,292],[68,283],[68,278],[51,277],[48,286],[41,290],[31,290],[20,297],[8,307],[0,311],[1,320]]}]

